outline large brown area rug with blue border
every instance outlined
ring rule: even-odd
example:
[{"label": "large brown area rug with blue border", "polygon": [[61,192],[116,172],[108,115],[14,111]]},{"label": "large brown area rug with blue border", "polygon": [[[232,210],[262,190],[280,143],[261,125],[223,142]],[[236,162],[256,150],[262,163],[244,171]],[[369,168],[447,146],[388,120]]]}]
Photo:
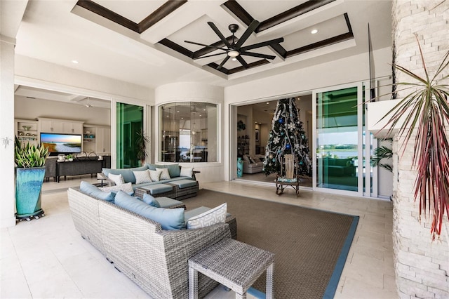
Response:
[{"label": "large brown area rug with blue border", "polygon": [[[227,203],[237,239],[275,254],[275,298],[333,298],[356,232],[358,216],[201,189],[187,209]],[[265,274],[248,291],[265,292]]]}]

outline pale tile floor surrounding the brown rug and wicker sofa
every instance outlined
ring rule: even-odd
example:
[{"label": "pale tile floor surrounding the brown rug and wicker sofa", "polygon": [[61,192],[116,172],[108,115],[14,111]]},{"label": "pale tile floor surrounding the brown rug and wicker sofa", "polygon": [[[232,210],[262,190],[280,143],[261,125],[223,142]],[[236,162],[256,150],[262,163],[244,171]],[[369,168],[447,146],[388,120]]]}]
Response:
[{"label": "pale tile floor surrounding the brown rug and wicker sofa", "polygon": [[[46,216],[1,230],[0,298],[148,298],[74,229],[66,190],[79,185],[81,179],[97,182],[90,176],[60,183],[45,182],[42,207]],[[302,191],[297,198],[293,190],[286,190],[279,197],[274,194],[273,187],[245,182],[213,182],[200,186],[359,215],[335,298],[398,298],[391,246],[391,202],[310,191]],[[218,287],[208,298],[234,298],[234,293]]]}]

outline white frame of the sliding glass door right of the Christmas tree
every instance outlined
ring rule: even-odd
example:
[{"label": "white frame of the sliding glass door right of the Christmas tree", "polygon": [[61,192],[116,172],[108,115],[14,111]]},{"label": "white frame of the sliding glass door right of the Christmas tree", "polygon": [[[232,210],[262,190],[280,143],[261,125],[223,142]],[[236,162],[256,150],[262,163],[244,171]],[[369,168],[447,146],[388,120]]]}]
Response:
[{"label": "white frame of the sliding glass door right of the Christmas tree", "polygon": [[[368,84],[368,85],[367,85]],[[319,88],[314,89],[312,92],[312,190],[319,191],[319,192],[326,192],[326,193],[333,193],[333,194],[340,194],[340,195],[350,195],[350,196],[368,196],[370,197],[370,192],[363,192],[363,175],[358,175],[357,178],[357,191],[348,191],[348,190],[337,190],[337,189],[330,189],[330,188],[324,188],[324,187],[317,187],[317,174],[318,174],[318,168],[316,164],[316,147],[318,145],[318,132],[317,132],[317,98],[316,95],[318,93],[324,93],[328,91],[337,91],[344,88],[357,88],[357,136],[358,136],[358,147],[357,147],[357,157],[358,161],[363,161],[363,157],[366,156],[367,158],[365,161],[366,164],[366,172],[370,173],[370,147],[368,146],[366,151],[363,152],[363,109],[365,109],[365,105],[363,105],[363,86],[366,86],[365,88],[365,98],[369,98],[369,82],[368,81],[360,81],[355,82],[351,84],[342,84],[337,86],[330,86],[327,88]],[[370,144],[370,134],[366,136],[366,143],[367,145]],[[363,162],[358,163],[357,166],[358,173],[363,174]],[[371,178],[370,175],[367,175],[365,178],[366,186],[370,186]],[[377,180],[373,180],[373,190],[377,190],[377,185],[374,185],[374,183],[377,183]],[[377,192],[376,192],[377,193]]]}]

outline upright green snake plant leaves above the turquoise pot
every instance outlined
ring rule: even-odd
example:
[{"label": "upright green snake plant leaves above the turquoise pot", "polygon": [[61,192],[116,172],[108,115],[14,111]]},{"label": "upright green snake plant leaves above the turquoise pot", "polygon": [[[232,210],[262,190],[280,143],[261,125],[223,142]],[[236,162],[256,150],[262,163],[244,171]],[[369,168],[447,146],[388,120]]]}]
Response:
[{"label": "upright green snake plant leaves above the turquoise pot", "polygon": [[42,167],[48,157],[48,147],[43,145],[25,145],[15,136],[14,161],[20,168]]}]

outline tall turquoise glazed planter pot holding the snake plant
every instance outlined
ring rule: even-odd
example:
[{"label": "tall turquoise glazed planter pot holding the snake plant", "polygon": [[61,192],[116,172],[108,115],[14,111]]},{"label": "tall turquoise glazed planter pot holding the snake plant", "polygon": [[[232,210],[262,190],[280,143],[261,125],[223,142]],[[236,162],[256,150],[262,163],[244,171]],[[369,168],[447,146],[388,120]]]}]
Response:
[{"label": "tall turquoise glazed planter pot holding the snake plant", "polygon": [[41,209],[41,189],[44,167],[15,168],[15,207],[18,219],[43,214]]}]

